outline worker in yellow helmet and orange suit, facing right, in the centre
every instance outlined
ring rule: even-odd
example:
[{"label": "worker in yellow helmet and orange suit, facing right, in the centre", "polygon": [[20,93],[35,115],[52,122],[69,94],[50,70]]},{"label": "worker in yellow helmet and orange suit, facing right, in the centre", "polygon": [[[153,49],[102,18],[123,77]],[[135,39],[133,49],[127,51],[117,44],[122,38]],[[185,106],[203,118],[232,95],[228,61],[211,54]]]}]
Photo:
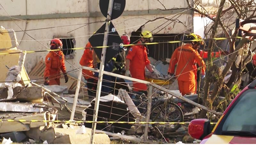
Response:
[{"label": "worker in yellow helmet and orange suit, facing right, in the centre", "polygon": [[[149,31],[143,31],[140,34],[140,39],[137,44],[130,47],[128,51],[128,55],[126,57],[126,76],[145,80],[145,67],[153,73],[156,77],[159,77],[152,69],[150,65],[150,61],[147,58],[147,48],[145,47],[145,43],[152,41],[153,36]],[[133,91],[135,92],[143,92],[145,95],[147,94],[147,86],[146,84],[133,82]]]}]

